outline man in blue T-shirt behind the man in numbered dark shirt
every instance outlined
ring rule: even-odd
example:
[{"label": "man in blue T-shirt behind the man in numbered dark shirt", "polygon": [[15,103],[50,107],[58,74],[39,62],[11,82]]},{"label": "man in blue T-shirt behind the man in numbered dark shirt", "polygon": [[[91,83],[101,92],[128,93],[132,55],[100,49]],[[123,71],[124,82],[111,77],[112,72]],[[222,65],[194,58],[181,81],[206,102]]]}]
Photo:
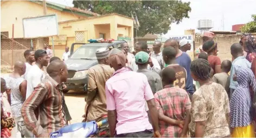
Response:
[{"label": "man in blue T-shirt behind the man in numbered dark shirt", "polygon": [[176,62],[178,64],[180,64],[182,67],[185,68],[185,70],[187,70],[187,82],[186,82],[186,91],[189,94],[189,97],[191,99],[193,93],[194,93],[194,88],[193,88],[193,78],[191,77],[190,74],[190,63],[191,63],[191,59],[189,57],[189,55],[186,52],[182,52],[180,50],[180,47],[178,45],[178,42],[174,39],[169,39],[167,41],[164,42],[164,48],[167,47],[173,47],[176,49]]}]

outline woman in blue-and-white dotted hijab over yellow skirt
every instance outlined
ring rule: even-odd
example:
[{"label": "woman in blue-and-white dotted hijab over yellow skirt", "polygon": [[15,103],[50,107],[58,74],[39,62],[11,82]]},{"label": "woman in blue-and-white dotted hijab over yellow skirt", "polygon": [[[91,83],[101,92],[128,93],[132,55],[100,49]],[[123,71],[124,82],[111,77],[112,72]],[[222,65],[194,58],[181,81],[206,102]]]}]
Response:
[{"label": "woman in blue-and-white dotted hijab over yellow skirt", "polygon": [[251,69],[239,68],[233,80],[238,82],[230,101],[231,137],[255,137],[252,115],[252,100],[249,86],[256,91],[256,81]]}]

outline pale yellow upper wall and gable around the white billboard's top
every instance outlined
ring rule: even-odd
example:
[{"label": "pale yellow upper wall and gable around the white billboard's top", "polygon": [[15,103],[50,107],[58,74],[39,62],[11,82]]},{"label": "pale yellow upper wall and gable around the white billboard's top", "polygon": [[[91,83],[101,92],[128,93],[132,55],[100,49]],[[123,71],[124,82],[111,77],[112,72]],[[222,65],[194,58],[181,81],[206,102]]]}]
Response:
[{"label": "pale yellow upper wall and gable around the white billboard's top", "polygon": [[[71,19],[83,18],[84,16],[73,15],[68,12],[61,12],[47,7],[47,14],[57,14],[58,22]],[[43,15],[43,6],[29,1],[1,1],[1,32],[9,31],[12,33],[14,24],[14,38],[23,37],[22,18],[36,17]]]}]

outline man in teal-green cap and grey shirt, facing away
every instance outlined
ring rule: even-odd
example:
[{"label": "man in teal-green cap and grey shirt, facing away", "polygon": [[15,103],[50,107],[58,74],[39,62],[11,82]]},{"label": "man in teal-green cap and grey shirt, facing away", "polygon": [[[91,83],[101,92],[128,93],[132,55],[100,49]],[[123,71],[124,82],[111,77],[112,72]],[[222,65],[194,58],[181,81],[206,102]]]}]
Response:
[{"label": "man in teal-green cap and grey shirt, facing away", "polygon": [[159,74],[148,70],[149,54],[140,51],[135,55],[135,62],[138,65],[138,73],[143,73],[148,78],[149,85],[153,94],[163,89],[162,79]]}]

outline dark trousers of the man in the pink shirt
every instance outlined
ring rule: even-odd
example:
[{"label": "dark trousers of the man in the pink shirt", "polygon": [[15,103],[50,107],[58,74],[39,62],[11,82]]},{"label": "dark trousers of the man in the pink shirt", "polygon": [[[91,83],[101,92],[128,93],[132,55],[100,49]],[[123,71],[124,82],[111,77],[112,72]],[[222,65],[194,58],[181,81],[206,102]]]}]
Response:
[{"label": "dark trousers of the man in the pink shirt", "polygon": [[114,137],[153,137],[153,129],[146,129],[143,132],[116,134]]}]

